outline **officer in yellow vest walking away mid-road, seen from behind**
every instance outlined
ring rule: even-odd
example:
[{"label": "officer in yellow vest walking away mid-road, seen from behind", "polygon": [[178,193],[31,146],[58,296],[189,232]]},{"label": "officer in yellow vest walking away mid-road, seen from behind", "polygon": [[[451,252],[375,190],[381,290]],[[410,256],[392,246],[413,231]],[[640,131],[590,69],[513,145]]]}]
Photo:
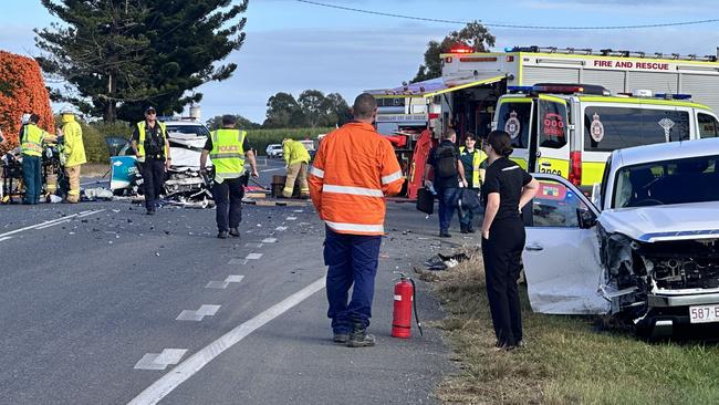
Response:
[{"label": "officer in yellow vest walking away mid-road, seen from behind", "polygon": [[207,173],[207,156],[215,166],[215,184],[212,198],[215,199],[217,237],[227,239],[228,235],[240,237],[240,222],[242,221],[242,197],[247,174],[244,172],[244,156],[250,163],[252,177],[259,177],[254,152],[247,139],[247,132],[235,129],[236,117],[222,116],[222,128],[212,132],[207,138],[200,154],[200,173]]}]

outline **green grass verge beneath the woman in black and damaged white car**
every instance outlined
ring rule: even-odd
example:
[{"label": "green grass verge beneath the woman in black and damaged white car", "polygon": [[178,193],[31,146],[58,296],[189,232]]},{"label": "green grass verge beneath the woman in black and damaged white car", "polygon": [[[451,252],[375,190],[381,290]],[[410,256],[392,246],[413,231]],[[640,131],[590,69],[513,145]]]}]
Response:
[{"label": "green grass verge beneath the woman in black and damaged white car", "polygon": [[592,318],[534,314],[523,291],[527,346],[494,352],[481,258],[435,278],[459,372],[437,390],[447,404],[715,404],[719,349],[647,343],[597,332]]}]

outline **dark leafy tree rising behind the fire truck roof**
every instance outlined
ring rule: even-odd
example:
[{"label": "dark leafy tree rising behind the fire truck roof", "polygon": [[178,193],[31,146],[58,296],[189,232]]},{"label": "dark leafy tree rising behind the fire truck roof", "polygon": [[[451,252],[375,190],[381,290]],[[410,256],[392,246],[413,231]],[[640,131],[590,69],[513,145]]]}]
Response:
[{"label": "dark leafy tree rising behind the fire truck roof", "polygon": [[425,64],[419,66],[413,82],[421,82],[441,76],[440,54],[449,52],[456,45],[469,46],[475,52],[489,52],[494,46],[494,35],[477,21],[470,22],[459,31],[452,31],[441,42],[427,43]]}]

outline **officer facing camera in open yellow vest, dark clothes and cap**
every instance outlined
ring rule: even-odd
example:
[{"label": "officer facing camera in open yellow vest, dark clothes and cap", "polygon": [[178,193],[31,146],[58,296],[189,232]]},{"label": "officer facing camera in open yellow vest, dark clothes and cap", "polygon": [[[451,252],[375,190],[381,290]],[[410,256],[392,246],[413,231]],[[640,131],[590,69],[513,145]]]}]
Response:
[{"label": "officer facing camera in open yellow vest, dark clothes and cap", "polygon": [[165,185],[165,172],[171,165],[165,124],[157,121],[155,107],[145,108],[145,120],[135,125],[133,149],[142,164],[143,189],[147,215],[155,215]]}]

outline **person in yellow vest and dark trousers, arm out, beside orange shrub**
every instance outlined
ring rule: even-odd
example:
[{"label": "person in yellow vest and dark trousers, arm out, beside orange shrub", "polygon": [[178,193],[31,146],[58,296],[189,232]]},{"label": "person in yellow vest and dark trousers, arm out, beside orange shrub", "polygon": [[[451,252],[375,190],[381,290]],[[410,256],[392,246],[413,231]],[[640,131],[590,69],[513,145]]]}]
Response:
[{"label": "person in yellow vest and dark trousers, arm out, beside orange shrub", "polygon": [[20,148],[22,150],[22,179],[25,195],[22,204],[40,202],[42,191],[42,144],[58,141],[40,127],[40,115],[31,114],[28,124],[20,129]]}]

